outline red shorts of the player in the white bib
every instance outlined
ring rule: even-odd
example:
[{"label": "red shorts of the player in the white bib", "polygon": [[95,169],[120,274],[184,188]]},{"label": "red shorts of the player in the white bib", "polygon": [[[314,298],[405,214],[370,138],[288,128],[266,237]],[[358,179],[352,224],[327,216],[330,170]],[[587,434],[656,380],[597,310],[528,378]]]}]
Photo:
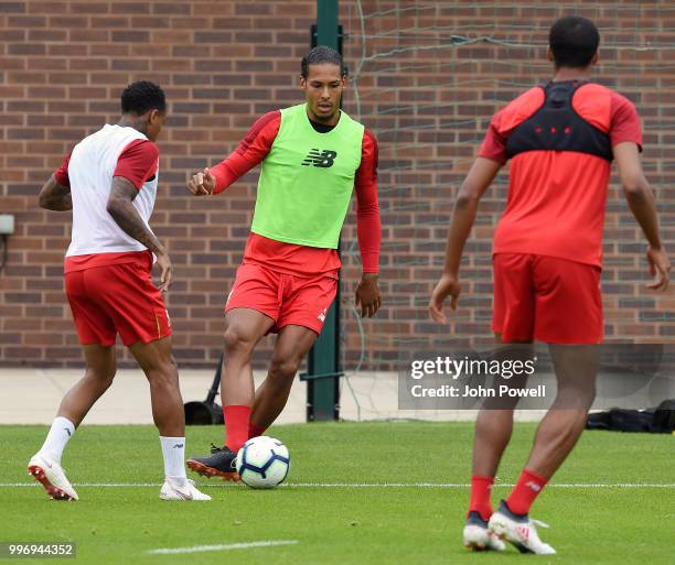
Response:
[{"label": "red shorts of the player in the white bib", "polygon": [[162,293],[152,282],[152,260],[93,267],[65,274],[77,335],[83,345],[149,344],[171,335]]}]

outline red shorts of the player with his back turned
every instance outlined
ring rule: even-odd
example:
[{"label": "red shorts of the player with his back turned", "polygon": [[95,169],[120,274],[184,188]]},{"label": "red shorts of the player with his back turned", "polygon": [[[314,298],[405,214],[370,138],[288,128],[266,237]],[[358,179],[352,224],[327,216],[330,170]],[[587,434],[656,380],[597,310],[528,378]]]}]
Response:
[{"label": "red shorts of the player with his back turned", "polygon": [[555,257],[496,253],[493,332],[504,343],[602,341],[600,268]]}]

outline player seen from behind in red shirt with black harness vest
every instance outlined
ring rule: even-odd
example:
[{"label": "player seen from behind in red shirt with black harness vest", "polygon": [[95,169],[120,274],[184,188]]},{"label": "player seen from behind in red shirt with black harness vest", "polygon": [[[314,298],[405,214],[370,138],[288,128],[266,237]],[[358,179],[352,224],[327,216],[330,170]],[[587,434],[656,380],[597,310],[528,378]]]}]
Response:
[{"label": "player seen from behind in red shirt with black harness vest", "polygon": [[[447,322],[442,312],[447,297],[457,308],[462,250],[479,200],[511,160],[506,209],[494,235],[492,328],[499,344],[535,339],[550,344],[558,392],[515,488],[494,513],[490,489],[511,437],[513,410],[479,413],[464,528],[464,545],[473,550],[503,550],[502,537],[523,552],[555,553],[539,540],[528,512],[575,446],[594,396],[598,359],[592,344],[602,340],[602,226],[613,160],[649,242],[647,261],[656,280],[647,286],[665,290],[668,284],[671,264],[640,162],[638,113],[623,96],[591,82],[599,40],[596,25],[585,18],[556,21],[548,50],[554,78],[493,117],[460,187],[443,274],[429,304],[431,316],[441,324]],[[575,410],[565,410],[570,402]]]}]

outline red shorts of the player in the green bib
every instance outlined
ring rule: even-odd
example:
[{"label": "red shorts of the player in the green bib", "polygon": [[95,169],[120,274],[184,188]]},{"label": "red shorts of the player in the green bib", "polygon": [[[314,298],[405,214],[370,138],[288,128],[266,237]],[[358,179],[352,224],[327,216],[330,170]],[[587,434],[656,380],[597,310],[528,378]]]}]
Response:
[{"label": "red shorts of the player in the green bib", "polygon": [[292,324],[321,334],[336,293],[338,280],[332,276],[296,276],[244,263],[237,269],[225,312],[251,308],[275,320],[271,332]]}]

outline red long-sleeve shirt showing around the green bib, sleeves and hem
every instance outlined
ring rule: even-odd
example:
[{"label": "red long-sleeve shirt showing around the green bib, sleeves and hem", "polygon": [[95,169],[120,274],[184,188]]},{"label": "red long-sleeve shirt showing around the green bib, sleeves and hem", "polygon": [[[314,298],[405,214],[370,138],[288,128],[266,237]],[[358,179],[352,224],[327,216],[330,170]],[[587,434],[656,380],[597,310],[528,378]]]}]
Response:
[{"label": "red long-sleeve shirt showing around the green bib, sleeves and hem", "polygon": [[[262,162],[271,150],[281,124],[281,112],[271,111],[259,118],[237,149],[211,172],[216,178],[215,194],[225,191],[237,178]],[[356,192],[356,230],[364,273],[379,272],[382,241],[377,200],[377,141],[365,130],[361,165],[354,178]],[[338,276],[340,258],[334,249],[285,243],[250,233],[244,252],[245,263],[258,263],[297,275],[328,274]]]}]

